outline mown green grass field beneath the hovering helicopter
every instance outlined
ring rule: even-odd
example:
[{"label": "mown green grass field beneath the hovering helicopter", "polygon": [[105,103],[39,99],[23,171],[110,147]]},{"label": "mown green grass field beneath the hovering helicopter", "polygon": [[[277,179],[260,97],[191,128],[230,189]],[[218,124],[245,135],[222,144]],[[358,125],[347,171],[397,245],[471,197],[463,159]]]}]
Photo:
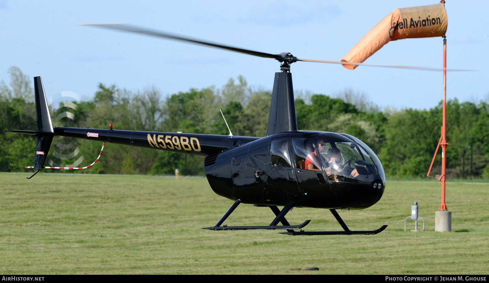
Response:
[{"label": "mown green grass field beneath the hovering helicopter", "polygon": [[[207,231],[232,204],[201,177],[0,173],[2,274],[488,274],[489,185],[450,183],[451,233],[435,233],[439,182],[388,181],[371,208],[338,211],[378,235],[286,236]],[[404,232],[418,201],[425,232]],[[240,205],[225,223],[268,225],[267,207]],[[341,230],[328,210],[295,208],[306,231]],[[419,228],[422,220],[419,221]],[[414,221],[408,220],[408,231]],[[303,267],[319,271],[302,271]]]}]

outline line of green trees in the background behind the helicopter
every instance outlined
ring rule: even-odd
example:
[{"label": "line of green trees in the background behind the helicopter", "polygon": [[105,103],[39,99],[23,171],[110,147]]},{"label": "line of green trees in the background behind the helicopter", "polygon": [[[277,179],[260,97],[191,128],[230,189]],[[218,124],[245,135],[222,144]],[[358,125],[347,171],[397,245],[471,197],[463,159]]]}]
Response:
[{"label": "line of green trees in the background behind the helicopter", "polygon": [[[35,130],[32,79],[17,67],[8,70],[10,83],[0,82],[0,171],[30,172],[35,138],[7,133],[9,129]],[[345,90],[330,97],[296,95],[299,130],[343,132],[371,147],[386,175],[426,175],[441,134],[442,104],[428,110],[380,111],[362,94]],[[93,98],[51,105],[53,126],[117,130],[191,132],[227,135],[226,117],[233,135],[263,137],[267,132],[271,91],[249,87],[239,76],[221,88],[191,88],[163,97],[156,88],[128,91],[115,85],[98,85]],[[469,173],[489,178],[489,104],[447,102],[447,177]],[[472,148],[468,146],[472,145]],[[98,156],[101,144],[55,137],[45,166],[86,166]],[[465,159],[463,160],[465,152]],[[49,163],[50,165],[47,165]],[[91,174],[203,175],[203,157],[106,144],[104,153],[86,170],[53,172]],[[441,149],[431,175],[441,172]]]}]

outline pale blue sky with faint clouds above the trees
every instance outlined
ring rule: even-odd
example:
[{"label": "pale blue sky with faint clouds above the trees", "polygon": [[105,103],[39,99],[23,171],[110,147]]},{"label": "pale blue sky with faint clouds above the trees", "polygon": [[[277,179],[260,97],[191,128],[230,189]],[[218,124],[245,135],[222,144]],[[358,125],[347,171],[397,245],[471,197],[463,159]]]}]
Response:
[{"label": "pale blue sky with faint clouds above the trees", "polygon": [[[182,36],[297,58],[340,61],[396,8],[432,0],[378,1],[10,1],[0,0],[0,80],[18,66],[42,76],[46,96],[72,91],[93,97],[99,83],[131,91],[156,87],[163,95],[222,87],[243,75],[271,90],[280,64],[201,45],[77,25],[127,22]],[[447,99],[478,102],[489,93],[488,1],[448,1]],[[480,20],[477,20],[480,19]],[[443,39],[404,39],[365,61],[379,65],[443,67]],[[333,95],[345,89],[397,109],[429,109],[442,99],[442,72],[296,62],[295,93]]]}]

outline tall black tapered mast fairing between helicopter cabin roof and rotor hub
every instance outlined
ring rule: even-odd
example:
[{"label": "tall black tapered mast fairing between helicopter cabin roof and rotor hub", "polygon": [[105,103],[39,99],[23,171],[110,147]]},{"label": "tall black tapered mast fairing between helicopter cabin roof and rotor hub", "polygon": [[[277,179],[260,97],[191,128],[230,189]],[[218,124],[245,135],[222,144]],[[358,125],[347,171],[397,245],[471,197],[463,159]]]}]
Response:
[{"label": "tall black tapered mast fairing between helicopter cabin roof and rotor hub", "polygon": [[289,72],[275,73],[267,136],[283,131],[297,131],[292,74]]}]

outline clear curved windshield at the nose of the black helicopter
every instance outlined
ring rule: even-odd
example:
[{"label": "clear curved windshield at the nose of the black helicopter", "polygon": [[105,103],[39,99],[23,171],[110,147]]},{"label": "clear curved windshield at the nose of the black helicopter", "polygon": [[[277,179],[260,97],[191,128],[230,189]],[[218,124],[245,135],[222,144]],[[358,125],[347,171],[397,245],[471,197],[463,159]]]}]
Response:
[{"label": "clear curved windshield at the nose of the black helicopter", "polygon": [[357,142],[340,134],[322,133],[317,143],[330,180],[370,184],[376,179],[375,162]]}]

